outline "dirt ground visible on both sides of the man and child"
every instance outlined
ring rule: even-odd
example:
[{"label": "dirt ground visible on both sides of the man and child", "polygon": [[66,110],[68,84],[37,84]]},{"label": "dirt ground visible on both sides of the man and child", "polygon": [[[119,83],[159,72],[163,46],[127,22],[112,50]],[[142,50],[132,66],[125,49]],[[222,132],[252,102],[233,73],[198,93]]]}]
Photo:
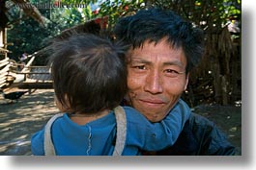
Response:
[{"label": "dirt ground visible on both sides of the man and child", "polygon": [[[30,137],[58,112],[52,89],[37,89],[10,103],[0,95],[0,155],[29,156]],[[241,150],[242,108],[201,105],[194,108],[228,134],[230,141]]]}]

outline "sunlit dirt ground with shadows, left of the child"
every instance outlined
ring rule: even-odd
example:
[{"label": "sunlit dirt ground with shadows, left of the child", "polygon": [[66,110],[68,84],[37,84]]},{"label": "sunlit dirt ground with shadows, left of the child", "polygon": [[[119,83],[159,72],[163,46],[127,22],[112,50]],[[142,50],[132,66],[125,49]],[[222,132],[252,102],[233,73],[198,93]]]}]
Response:
[{"label": "sunlit dirt ground with shadows, left of the child", "polygon": [[[20,90],[20,89],[19,89]],[[30,137],[54,115],[52,89],[38,89],[26,93],[17,102],[0,97],[0,155],[31,155]]]}]

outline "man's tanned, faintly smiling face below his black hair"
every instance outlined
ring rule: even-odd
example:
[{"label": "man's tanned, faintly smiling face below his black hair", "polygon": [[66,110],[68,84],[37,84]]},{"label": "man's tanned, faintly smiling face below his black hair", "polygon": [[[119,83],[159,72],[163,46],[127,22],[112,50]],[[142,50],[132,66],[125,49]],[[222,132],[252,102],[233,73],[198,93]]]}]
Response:
[{"label": "man's tanned, faintly smiling face below his black hair", "polygon": [[163,39],[128,52],[128,98],[150,121],[162,120],[188,83],[185,54]]}]

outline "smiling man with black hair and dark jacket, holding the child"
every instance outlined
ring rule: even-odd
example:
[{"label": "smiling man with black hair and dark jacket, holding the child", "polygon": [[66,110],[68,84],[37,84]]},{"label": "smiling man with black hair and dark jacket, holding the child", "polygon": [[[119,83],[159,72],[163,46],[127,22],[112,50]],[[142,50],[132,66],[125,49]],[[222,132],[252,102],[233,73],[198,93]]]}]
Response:
[{"label": "smiling man with black hair and dark jacket, holding the child", "polygon": [[[203,56],[203,32],[176,13],[159,9],[121,18],[114,32],[130,46],[129,104],[152,122],[162,120],[180,100],[190,70]],[[192,113],[172,147],[145,155],[223,156],[236,155],[236,149],[213,122]]]}]

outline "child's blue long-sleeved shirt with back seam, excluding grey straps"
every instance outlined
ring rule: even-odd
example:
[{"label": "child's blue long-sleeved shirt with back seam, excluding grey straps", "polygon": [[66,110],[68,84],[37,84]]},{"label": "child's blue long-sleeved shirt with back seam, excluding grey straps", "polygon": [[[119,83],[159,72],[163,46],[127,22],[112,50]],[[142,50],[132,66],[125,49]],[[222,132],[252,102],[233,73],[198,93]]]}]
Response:
[{"label": "child's blue long-sleeved shirt with back seam, excluding grey straps", "polygon": [[[130,107],[124,107],[127,116],[127,140],[123,156],[140,155],[140,150],[157,151],[172,146],[182,132],[190,109],[179,100],[167,116],[157,123]],[[58,156],[112,156],[116,139],[116,118],[113,111],[89,122],[77,125],[69,115],[55,120],[51,137]],[[31,138],[33,155],[43,156],[42,131]]]}]

